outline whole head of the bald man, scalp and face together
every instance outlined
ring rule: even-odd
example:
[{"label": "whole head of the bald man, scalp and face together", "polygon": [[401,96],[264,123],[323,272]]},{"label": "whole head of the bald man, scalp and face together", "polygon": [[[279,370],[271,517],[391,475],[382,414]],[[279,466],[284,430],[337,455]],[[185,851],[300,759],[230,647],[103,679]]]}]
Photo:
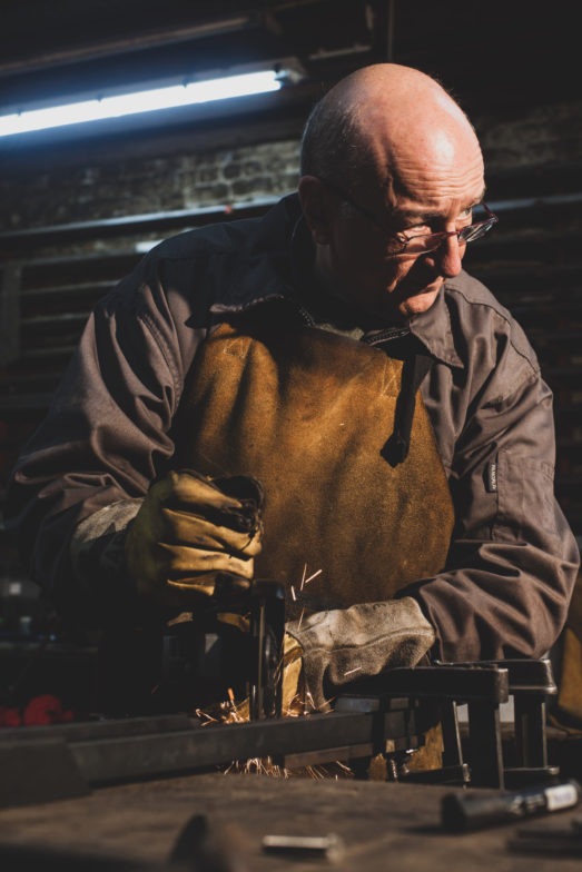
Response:
[{"label": "whole head of the bald man, scalp and face together", "polygon": [[[315,272],[331,291],[393,324],[426,311],[457,276],[457,236],[483,199],[467,118],[431,77],[378,63],[338,82],[305,129],[299,199]],[[403,239],[444,234],[435,248]],[[401,257],[402,255],[402,257]]]}]

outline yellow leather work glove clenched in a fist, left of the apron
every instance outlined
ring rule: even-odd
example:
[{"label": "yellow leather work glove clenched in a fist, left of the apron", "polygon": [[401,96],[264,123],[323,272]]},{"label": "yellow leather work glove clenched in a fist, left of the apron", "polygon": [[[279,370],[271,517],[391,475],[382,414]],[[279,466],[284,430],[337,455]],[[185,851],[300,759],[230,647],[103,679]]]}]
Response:
[{"label": "yellow leather work glove clenched in a fist, left of the apron", "polygon": [[125,541],[137,592],[188,608],[247,589],[260,552],[262,505],[260,485],[247,476],[211,479],[181,469],[156,482]]}]

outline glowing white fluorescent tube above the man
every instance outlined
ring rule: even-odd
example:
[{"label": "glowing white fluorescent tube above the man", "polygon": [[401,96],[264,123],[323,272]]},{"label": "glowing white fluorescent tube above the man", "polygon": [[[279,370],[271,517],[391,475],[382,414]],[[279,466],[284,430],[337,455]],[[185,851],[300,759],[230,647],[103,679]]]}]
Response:
[{"label": "glowing white fluorescent tube above the man", "polygon": [[103,118],[120,118],[138,112],[152,112],[157,109],[172,109],[176,106],[194,106],[229,97],[267,93],[278,91],[279,88],[277,73],[273,70],[264,70],[117,97],[102,97],[99,100],[85,100],[67,106],[51,106],[47,109],[0,116],[0,137],[78,125],[83,121],[98,121]]}]

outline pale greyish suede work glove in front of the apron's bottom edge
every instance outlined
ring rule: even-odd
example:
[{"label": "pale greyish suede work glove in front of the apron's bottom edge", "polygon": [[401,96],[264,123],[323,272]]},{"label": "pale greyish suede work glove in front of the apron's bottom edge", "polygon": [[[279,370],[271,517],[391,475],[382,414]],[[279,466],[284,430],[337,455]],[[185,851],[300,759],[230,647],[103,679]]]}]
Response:
[{"label": "pale greyish suede work glove in front of the apron's bottom edge", "polygon": [[337,686],[395,666],[415,666],[435,641],[411,596],[316,612],[287,623],[286,631],[302,647],[305,694],[317,711],[329,708],[327,682]]}]

